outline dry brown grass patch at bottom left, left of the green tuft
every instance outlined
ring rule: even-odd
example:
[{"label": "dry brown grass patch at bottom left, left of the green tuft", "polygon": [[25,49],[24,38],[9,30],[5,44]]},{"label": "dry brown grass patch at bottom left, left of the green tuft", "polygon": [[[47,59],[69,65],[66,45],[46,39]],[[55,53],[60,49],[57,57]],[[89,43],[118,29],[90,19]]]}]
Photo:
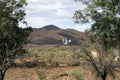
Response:
[{"label": "dry brown grass patch at bottom left, left of the green tuft", "polygon": [[39,80],[39,77],[33,68],[12,68],[7,71],[5,80]]}]

